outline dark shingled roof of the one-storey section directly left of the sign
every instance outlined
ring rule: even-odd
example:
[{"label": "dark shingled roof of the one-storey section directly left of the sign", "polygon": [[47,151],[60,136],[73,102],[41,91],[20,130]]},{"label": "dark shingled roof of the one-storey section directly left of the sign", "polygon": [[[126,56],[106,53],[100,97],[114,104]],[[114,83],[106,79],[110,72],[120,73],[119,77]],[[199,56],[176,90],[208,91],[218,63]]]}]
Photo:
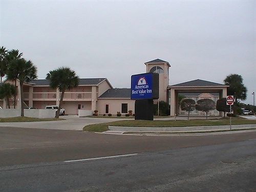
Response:
[{"label": "dark shingled roof of the one-storey section directly left of the sign", "polygon": [[109,89],[103,93],[99,98],[131,98],[131,89],[122,88],[122,89]]}]

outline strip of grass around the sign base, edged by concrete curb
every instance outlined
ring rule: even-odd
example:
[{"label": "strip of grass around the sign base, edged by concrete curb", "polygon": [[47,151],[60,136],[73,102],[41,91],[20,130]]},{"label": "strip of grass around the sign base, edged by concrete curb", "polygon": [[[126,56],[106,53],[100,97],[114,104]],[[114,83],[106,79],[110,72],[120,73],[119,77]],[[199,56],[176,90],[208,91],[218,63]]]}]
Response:
[{"label": "strip of grass around the sign base, edged by concrete curb", "polygon": [[[256,124],[256,120],[232,117],[232,124]],[[109,123],[87,125],[83,131],[104,132],[108,126],[139,126],[139,127],[175,127],[175,126],[204,126],[204,125],[229,125],[229,118],[209,120],[123,120]]]}]

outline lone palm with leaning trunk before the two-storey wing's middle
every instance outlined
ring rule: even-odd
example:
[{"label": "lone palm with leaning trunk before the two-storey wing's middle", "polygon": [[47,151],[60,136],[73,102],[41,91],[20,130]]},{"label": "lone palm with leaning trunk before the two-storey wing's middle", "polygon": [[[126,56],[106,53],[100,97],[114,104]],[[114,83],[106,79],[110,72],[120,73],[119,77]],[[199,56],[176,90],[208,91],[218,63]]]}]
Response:
[{"label": "lone palm with leaning trunk before the two-storey wing's middle", "polygon": [[50,71],[47,74],[46,79],[50,81],[51,88],[58,88],[61,92],[59,107],[55,116],[56,118],[59,118],[59,112],[65,91],[77,87],[79,83],[79,77],[76,75],[75,71],[71,70],[70,68],[60,67],[56,70]]}]

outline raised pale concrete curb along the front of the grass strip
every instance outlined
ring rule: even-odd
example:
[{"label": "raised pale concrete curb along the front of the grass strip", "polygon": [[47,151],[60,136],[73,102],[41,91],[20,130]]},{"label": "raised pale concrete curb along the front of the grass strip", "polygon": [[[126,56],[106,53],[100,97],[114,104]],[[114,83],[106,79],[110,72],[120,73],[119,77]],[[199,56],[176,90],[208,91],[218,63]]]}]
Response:
[{"label": "raised pale concrete curb along the front of the grass strip", "polygon": [[[232,125],[232,129],[256,128],[256,124]],[[216,131],[228,130],[230,125],[219,126],[183,126],[183,127],[130,127],[130,126],[109,126],[110,131],[122,132],[188,132],[188,131]]]}]

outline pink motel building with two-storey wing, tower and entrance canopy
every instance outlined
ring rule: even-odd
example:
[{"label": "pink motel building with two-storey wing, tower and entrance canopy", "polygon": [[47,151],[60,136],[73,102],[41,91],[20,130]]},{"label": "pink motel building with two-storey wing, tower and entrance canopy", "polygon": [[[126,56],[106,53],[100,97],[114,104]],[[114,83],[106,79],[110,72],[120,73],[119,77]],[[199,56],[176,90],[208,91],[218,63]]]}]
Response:
[{"label": "pink motel building with two-storey wing, tower and entrance canopy", "polygon": [[[202,98],[209,98],[215,102],[222,97],[227,96],[228,86],[220,83],[192,80],[169,86],[169,62],[155,59],[144,63],[146,73],[159,74],[159,99],[154,100],[165,101],[170,103],[170,115],[186,115],[187,112],[178,109],[178,95],[184,95],[186,98],[194,99],[196,102]],[[4,81],[14,84],[13,81]],[[19,82],[16,83],[18,94],[16,96],[16,109],[20,109],[20,87]],[[47,105],[58,105],[61,93],[58,89],[52,89],[49,81],[46,79],[36,79],[29,83],[24,83],[25,105],[36,109],[45,109]],[[14,100],[10,100],[11,108],[13,108]],[[0,100],[0,106],[7,109],[6,100]],[[117,112],[127,114],[130,110],[135,113],[135,100],[131,100],[131,89],[113,88],[107,78],[81,78],[76,88],[65,92],[62,108],[66,110],[66,115],[78,115],[79,110],[93,113],[98,110],[100,115],[112,114]],[[81,111],[80,111],[81,112]],[[178,114],[179,113],[179,114]],[[87,113],[88,114],[88,113]],[[202,112],[193,111],[190,114],[204,115]],[[216,110],[211,111],[211,115],[220,115]]]}]

